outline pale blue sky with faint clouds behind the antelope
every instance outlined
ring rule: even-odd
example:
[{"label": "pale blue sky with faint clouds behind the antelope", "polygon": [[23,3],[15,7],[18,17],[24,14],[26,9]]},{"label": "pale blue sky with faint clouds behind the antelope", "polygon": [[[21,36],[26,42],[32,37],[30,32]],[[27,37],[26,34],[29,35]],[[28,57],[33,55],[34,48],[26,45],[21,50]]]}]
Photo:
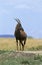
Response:
[{"label": "pale blue sky with faint clouds behind the antelope", "polygon": [[28,36],[42,38],[42,0],[0,0],[0,35],[14,35],[15,18]]}]

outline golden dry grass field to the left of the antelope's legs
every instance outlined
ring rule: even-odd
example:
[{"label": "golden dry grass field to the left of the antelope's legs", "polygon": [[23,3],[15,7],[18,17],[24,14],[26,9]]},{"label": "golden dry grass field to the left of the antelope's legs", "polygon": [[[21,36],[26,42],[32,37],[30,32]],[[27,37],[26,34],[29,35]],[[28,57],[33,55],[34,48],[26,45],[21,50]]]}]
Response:
[{"label": "golden dry grass field to the left of the antelope's legs", "polygon": [[0,50],[15,50],[16,42],[14,38],[0,38]]}]

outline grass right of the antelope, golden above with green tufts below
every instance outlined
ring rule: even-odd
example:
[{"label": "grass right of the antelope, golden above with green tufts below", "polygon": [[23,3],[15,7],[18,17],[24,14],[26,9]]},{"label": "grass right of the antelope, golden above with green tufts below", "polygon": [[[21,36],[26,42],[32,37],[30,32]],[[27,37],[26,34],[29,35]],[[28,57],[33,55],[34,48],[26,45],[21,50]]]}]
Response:
[{"label": "grass right of the antelope, golden above with green tufts below", "polygon": [[42,50],[42,39],[27,39],[26,50]]}]

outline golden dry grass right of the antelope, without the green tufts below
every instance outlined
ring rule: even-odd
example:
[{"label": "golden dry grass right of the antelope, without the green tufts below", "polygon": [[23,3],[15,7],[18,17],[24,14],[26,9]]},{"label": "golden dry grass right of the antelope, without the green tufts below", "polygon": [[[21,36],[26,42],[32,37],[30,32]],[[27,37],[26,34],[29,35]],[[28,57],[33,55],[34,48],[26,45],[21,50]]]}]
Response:
[{"label": "golden dry grass right of the antelope, without the green tufts below", "polygon": [[42,39],[27,39],[25,48],[27,50],[28,48],[37,48],[39,46],[42,46]]}]

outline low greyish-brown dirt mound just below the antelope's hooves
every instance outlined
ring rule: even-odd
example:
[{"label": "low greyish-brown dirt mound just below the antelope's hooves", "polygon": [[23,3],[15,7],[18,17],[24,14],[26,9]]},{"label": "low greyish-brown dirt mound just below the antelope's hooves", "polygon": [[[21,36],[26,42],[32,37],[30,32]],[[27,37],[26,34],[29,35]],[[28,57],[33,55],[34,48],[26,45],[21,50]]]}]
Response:
[{"label": "low greyish-brown dirt mound just below the antelope's hooves", "polygon": [[24,52],[11,52],[8,54],[8,56],[12,57],[31,57],[34,56],[34,53],[24,53]]}]

